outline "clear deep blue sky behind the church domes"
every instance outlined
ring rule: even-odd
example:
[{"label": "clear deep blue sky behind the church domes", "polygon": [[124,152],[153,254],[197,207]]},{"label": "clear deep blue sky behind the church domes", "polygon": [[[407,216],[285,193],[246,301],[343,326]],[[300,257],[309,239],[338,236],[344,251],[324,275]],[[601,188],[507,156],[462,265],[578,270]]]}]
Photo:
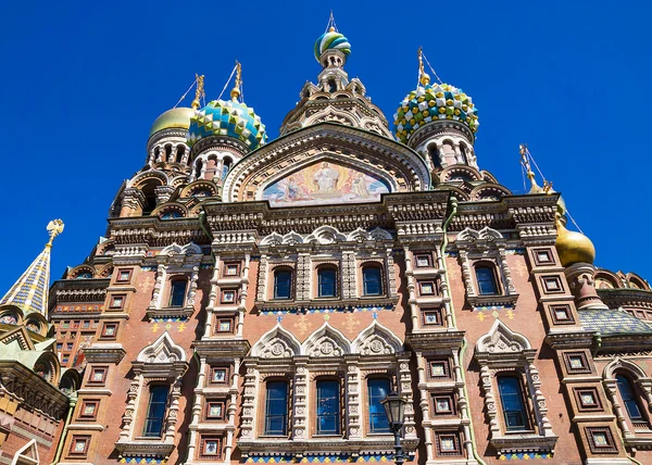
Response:
[{"label": "clear deep blue sky behind the church domes", "polygon": [[480,167],[522,192],[527,142],[595,243],[597,264],[652,279],[650,2],[241,4],[0,3],[0,292],[41,250],[51,218],[66,224],[52,277],[84,261],[122,180],[145,164],[152,122],[195,73],[214,99],[239,60],[244,100],[276,137],[319,72],[312,47],[330,9],[352,45],[347,71],[388,118],[416,84],[423,46],[479,109]]}]

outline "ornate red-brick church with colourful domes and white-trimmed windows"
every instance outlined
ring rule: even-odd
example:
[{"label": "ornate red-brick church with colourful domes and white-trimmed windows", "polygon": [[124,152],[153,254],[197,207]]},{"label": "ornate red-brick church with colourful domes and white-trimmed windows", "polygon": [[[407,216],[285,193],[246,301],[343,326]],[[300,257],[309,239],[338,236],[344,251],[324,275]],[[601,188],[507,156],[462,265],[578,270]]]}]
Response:
[{"label": "ornate red-brick church with colourful domes and white-trimmed windows", "polygon": [[393,462],[391,391],[410,463],[652,463],[648,282],[525,147],[529,193],[485,169],[461,89],[422,65],[392,130],[349,55],[319,37],[275,140],[239,65],[230,100],[199,77],[34,305],[49,242],[0,302],[0,463]]}]

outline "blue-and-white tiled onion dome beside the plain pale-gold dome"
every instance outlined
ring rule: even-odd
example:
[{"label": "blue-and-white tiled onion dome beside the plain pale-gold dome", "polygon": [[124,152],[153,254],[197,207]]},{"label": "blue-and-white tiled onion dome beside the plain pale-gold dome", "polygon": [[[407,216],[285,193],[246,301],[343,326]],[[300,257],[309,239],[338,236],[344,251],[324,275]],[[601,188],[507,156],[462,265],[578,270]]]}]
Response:
[{"label": "blue-and-white tiled onion dome beside the plain pale-gold dome", "polygon": [[213,100],[190,118],[188,144],[209,136],[229,136],[258,149],[267,141],[265,125],[253,109],[233,100]]}]

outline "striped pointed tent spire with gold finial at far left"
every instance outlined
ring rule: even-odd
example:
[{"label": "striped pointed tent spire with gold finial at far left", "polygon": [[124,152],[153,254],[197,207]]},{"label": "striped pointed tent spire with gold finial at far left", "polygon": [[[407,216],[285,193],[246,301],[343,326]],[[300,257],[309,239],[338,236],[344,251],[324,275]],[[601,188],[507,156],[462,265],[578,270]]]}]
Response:
[{"label": "striped pointed tent spire with gold finial at far left", "polygon": [[63,222],[52,219],[48,223],[50,240],[41,253],[29,267],[23,273],[18,280],[0,300],[0,305],[16,305],[26,314],[38,312],[48,316],[48,287],[50,286],[50,250],[52,241],[63,232]]}]

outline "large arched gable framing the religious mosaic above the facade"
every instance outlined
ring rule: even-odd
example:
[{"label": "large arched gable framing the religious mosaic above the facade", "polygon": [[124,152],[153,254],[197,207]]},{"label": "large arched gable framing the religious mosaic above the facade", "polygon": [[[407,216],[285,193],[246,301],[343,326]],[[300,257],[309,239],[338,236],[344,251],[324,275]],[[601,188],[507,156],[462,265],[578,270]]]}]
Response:
[{"label": "large arched gable framing the religious mosaic above the facade", "polygon": [[293,200],[368,202],[384,191],[429,187],[428,167],[410,148],[359,128],[319,123],[243,158],[224,180],[223,197],[229,202],[267,199],[286,206],[297,204]]}]

